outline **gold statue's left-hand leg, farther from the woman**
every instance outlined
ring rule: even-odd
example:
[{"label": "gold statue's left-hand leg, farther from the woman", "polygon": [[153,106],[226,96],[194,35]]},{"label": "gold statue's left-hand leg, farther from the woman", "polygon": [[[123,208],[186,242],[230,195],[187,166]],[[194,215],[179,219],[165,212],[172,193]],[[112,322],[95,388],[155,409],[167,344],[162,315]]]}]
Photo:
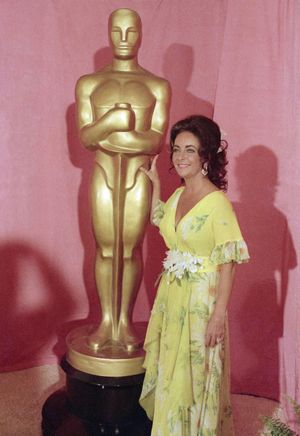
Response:
[{"label": "gold statue's left-hand leg, farther from the woman", "polygon": [[101,304],[102,319],[99,327],[89,337],[89,345],[99,349],[110,344],[117,331],[114,317],[113,292],[113,193],[107,186],[105,173],[95,165],[91,183],[93,230],[96,240],[95,278]]}]

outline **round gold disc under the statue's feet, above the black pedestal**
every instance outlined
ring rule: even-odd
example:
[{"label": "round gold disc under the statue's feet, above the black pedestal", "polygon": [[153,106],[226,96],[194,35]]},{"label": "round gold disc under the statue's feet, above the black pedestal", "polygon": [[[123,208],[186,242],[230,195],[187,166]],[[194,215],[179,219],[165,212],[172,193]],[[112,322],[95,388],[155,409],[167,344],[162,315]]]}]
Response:
[{"label": "round gold disc under the statue's feet, above the black pedestal", "polygon": [[88,345],[88,337],[95,326],[79,327],[67,336],[67,361],[73,368],[88,374],[102,377],[125,377],[142,374],[145,352],[142,349],[132,352],[116,345],[93,351]]}]

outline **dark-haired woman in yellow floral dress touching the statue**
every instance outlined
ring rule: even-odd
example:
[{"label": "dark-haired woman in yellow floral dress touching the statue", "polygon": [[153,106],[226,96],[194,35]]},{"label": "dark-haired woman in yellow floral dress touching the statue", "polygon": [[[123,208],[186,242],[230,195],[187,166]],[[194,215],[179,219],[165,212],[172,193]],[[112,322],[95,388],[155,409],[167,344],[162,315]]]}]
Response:
[{"label": "dark-haired woman in yellow floral dress touching the statue", "polygon": [[145,339],[140,398],[154,436],[233,434],[226,310],[236,263],[248,260],[222,192],[226,147],[218,125],[191,116],[171,129],[171,159],[184,185],[160,200],[157,157],[152,222],[169,249]]}]

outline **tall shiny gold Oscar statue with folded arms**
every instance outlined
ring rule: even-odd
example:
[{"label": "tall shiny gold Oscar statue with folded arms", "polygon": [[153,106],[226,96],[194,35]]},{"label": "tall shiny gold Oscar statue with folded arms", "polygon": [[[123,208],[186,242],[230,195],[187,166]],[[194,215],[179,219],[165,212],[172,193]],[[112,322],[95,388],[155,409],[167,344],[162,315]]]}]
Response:
[{"label": "tall shiny gold Oscar statue with folded arms", "polygon": [[151,157],[160,151],[170,103],[169,83],[138,64],[139,15],[117,9],[108,26],[112,63],[81,77],[76,85],[80,139],[95,152],[91,204],[102,313],[97,328],[69,334],[68,359],[78,369],[91,366],[90,360],[82,363],[85,354],[98,358],[93,365],[99,366],[99,356],[125,358],[141,348],[132,311],[142,279],[151,185],[139,169],[148,168]]}]

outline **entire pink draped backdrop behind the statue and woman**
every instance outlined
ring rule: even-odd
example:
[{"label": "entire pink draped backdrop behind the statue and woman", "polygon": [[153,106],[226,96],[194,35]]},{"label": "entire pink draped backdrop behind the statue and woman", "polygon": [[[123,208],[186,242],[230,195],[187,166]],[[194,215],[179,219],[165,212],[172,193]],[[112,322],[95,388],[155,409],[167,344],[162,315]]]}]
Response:
[{"label": "entire pink draped backdrop behind the statue and woman", "polygon": [[[252,261],[230,308],[234,392],[300,401],[300,4],[297,0],[1,2],[1,369],[56,362],[98,320],[88,186],[74,86],[110,60],[109,13],[136,9],[140,63],[169,79],[171,122],[214,116],[227,132],[229,197]],[[177,185],[165,151],[166,197]],[[298,194],[298,195],[297,195]],[[135,321],[146,321],[164,247],[149,227]]]}]

